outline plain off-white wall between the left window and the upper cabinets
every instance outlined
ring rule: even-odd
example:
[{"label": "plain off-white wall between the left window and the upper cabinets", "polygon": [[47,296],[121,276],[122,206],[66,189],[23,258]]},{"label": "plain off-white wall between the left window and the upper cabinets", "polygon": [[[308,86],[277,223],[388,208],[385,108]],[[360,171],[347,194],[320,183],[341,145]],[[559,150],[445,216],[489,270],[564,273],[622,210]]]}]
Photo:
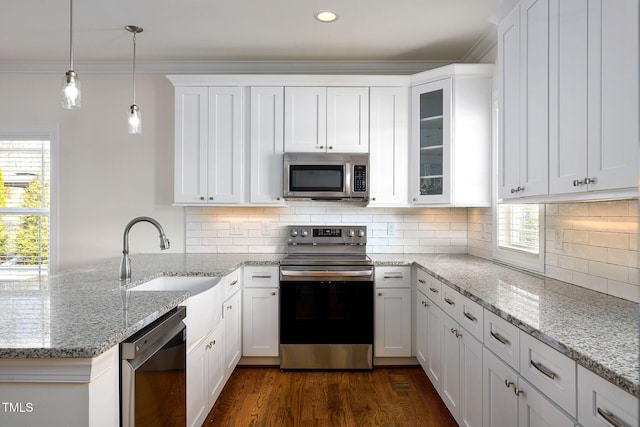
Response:
[{"label": "plain off-white wall between the left window and the upper cabinets", "polygon": [[[130,75],[82,74],[82,108],[60,107],[62,76],[4,73],[0,123],[59,126],[59,267],[119,257],[125,225],[151,216],[164,227],[173,252],[184,251],[184,208],[173,200],[173,87],[160,75],[136,77],[143,131],[130,135]],[[130,249],[156,252],[158,235],[139,224]],[[134,258],[135,255],[132,257]],[[135,261],[134,261],[135,262]],[[116,272],[117,273],[117,272]]]}]

